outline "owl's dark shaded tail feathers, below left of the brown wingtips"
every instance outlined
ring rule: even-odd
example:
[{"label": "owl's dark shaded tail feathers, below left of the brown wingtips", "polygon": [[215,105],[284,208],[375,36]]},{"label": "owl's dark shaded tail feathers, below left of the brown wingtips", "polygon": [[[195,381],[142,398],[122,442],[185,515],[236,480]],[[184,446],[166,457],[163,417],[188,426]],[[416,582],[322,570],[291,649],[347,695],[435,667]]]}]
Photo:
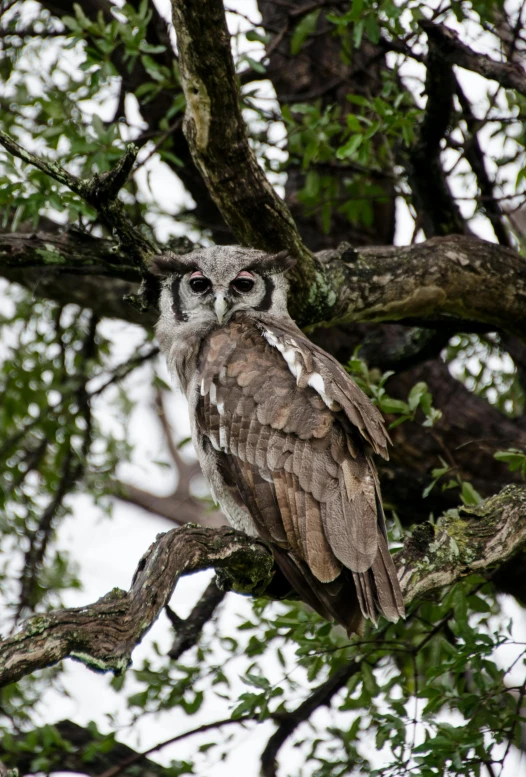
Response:
[{"label": "owl's dark shaded tail feathers, below left of the brown wingtips", "polygon": [[363,632],[363,615],[347,570],[332,583],[321,583],[308,566],[278,545],[271,545],[276,564],[299,597],[322,618],[336,621],[351,634]]}]

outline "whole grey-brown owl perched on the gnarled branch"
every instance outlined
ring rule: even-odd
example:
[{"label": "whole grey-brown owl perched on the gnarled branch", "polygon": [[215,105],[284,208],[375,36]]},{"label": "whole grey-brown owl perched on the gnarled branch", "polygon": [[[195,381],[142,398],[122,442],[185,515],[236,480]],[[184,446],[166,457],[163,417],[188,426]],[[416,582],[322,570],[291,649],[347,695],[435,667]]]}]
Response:
[{"label": "whole grey-brown owl perched on the gnarled branch", "polygon": [[304,602],[351,634],[364,616],[404,616],[370,456],[387,457],[389,438],[365,394],[289,316],[293,264],[240,246],[158,257],[157,337],[214,500],[268,544]]}]

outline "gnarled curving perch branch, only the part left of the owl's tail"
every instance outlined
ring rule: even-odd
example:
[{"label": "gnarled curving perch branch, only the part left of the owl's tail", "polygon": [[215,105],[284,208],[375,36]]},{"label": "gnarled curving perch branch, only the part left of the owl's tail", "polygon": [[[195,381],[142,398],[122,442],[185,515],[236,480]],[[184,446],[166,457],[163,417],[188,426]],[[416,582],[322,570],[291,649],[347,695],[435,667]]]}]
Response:
[{"label": "gnarled curving perch branch, only the part left of the owl's tail", "polygon": [[123,672],[169,601],[182,574],[225,569],[239,592],[264,590],[272,577],[267,548],[229,528],[188,524],[161,534],[140,560],[129,592],[113,589],[88,607],[38,615],[0,643],[0,687],[67,656],[91,669]]}]

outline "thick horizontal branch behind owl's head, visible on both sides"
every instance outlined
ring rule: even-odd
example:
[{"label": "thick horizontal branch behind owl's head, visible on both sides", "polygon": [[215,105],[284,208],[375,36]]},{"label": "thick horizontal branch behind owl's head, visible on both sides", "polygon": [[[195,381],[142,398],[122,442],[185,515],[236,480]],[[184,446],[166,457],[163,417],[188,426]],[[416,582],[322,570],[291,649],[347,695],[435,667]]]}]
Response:
[{"label": "thick horizontal branch behind owl's head, visible on both sides", "polygon": [[[137,288],[140,274],[124,253],[117,256],[110,241],[89,235],[0,234],[4,277],[58,301],[151,326],[154,311],[139,314],[122,300],[122,292]],[[322,270],[314,283],[317,298],[325,302],[307,319],[298,300],[308,294],[308,286],[304,278],[292,278],[291,314],[304,326],[401,321],[429,322],[440,329],[444,321],[450,329],[463,321],[525,337],[526,260],[503,246],[451,235],[401,247],[343,244],[318,256]],[[111,284],[105,283],[108,277]]]}]

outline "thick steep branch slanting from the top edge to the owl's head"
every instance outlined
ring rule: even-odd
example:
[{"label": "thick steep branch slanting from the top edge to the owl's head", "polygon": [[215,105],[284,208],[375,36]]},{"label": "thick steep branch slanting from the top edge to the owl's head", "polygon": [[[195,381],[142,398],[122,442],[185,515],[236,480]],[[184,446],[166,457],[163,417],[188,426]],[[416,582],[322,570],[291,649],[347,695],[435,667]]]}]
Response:
[{"label": "thick steep branch slanting from the top edge to the owl's head", "polygon": [[172,0],[181,80],[184,132],[192,158],[223,218],[242,245],[298,258],[294,278],[309,293],[298,297],[302,319],[323,316],[327,300],[318,263],[303,244],[248,143],[222,0]]}]

